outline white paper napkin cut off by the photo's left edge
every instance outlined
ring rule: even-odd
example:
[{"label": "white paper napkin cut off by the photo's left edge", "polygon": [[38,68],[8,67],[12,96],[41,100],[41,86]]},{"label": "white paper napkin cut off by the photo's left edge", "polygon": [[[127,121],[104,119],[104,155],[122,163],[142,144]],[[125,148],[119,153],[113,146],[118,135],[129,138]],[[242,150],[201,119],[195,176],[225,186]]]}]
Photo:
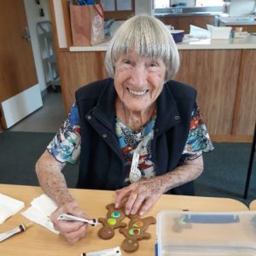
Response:
[{"label": "white paper napkin cut off by the photo's left edge", "polygon": [[0,224],[3,224],[7,218],[19,212],[24,206],[23,201],[0,193]]}]

